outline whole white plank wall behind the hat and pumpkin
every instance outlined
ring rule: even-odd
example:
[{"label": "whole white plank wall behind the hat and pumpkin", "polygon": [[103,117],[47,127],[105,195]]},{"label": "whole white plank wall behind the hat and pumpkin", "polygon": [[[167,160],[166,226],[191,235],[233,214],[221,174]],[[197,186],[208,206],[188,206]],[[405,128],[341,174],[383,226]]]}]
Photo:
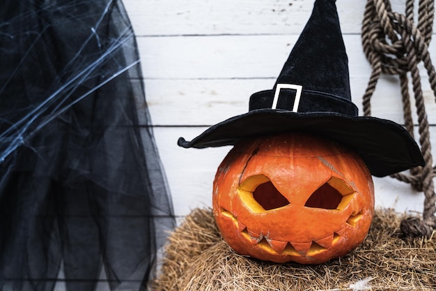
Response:
[{"label": "whole white plank wall behind the hat and pumpkin", "polygon": [[[312,0],[124,0],[141,52],[146,98],[177,216],[211,206],[212,180],[230,147],[182,149],[205,128],[247,112],[249,96],[271,89],[313,8]],[[405,0],[391,0],[403,13]],[[338,0],[350,61],[352,98],[361,112],[371,67],[361,47],[366,0]],[[416,4],[417,5],[417,4]],[[436,31],[436,26],[434,31]],[[430,45],[436,59],[435,42]],[[435,63],[434,63],[435,64]],[[433,92],[422,70],[430,124]],[[403,124],[398,78],[384,76],[373,116]],[[432,126],[433,148],[436,130]],[[435,150],[436,154],[436,150]],[[436,156],[433,154],[434,156]],[[374,178],[377,207],[422,211],[423,193],[389,177]]]}]

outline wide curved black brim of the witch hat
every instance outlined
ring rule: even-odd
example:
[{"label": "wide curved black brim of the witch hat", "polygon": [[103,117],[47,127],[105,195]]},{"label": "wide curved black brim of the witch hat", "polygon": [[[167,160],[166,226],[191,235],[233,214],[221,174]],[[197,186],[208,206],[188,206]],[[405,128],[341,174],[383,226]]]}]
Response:
[{"label": "wide curved black brim of the witch hat", "polygon": [[375,177],[423,166],[418,144],[393,121],[376,117],[350,117],[332,112],[296,113],[287,110],[253,110],[211,126],[180,147],[221,147],[247,137],[299,131],[328,138],[359,154]]}]

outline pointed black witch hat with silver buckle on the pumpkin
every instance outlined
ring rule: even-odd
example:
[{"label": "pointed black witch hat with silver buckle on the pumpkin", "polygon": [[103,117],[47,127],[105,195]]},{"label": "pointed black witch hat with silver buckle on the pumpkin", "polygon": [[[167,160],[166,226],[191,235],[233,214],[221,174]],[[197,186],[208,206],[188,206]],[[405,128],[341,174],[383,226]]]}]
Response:
[{"label": "pointed black witch hat with silver buckle on the pumpkin", "polygon": [[351,101],[335,0],[316,0],[276,84],[251,95],[249,112],[211,126],[190,142],[180,137],[178,145],[220,147],[247,137],[293,131],[353,149],[377,177],[424,164],[418,145],[403,126],[358,116]]}]

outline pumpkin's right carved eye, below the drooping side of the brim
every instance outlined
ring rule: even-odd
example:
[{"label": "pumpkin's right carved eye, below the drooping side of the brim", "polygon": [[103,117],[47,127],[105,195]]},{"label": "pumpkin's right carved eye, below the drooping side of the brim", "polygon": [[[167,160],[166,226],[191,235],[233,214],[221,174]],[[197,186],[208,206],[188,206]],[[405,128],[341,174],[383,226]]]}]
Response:
[{"label": "pumpkin's right carved eye, below the drooping side of the brim", "polygon": [[354,193],[345,181],[332,177],[312,193],[304,206],[343,210]]}]

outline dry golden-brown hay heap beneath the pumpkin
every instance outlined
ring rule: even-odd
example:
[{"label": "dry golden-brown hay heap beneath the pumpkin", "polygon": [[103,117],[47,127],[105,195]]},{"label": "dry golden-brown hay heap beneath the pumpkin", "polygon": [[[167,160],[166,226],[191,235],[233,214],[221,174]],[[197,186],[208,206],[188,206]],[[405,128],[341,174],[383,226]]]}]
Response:
[{"label": "dry golden-brown hay heap beneath the pumpkin", "polygon": [[169,237],[156,291],[436,290],[436,233],[400,234],[405,214],[375,211],[365,241],[325,264],[261,262],[238,255],[222,239],[211,209],[194,209]]}]

